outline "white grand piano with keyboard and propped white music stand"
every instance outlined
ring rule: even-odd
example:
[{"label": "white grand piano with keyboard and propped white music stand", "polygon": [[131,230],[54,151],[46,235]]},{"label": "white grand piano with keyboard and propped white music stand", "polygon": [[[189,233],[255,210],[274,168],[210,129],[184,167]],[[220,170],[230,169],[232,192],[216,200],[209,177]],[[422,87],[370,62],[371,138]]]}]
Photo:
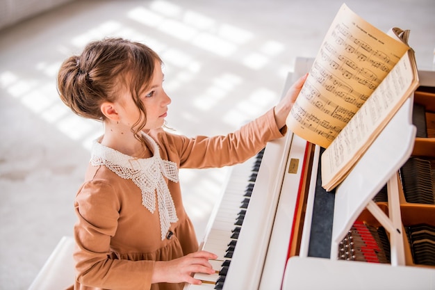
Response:
[{"label": "white grand piano with keyboard and propped white music stand", "polygon": [[[297,59],[284,92],[311,62]],[[420,84],[435,86],[434,76],[420,76]],[[406,223],[435,226],[435,205],[405,204],[397,174],[416,142],[412,111],[411,96],[330,193],[320,186],[322,149],[291,132],[233,166],[201,246],[219,256],[211,261],[217,273],[195,274],[203,284],[185,290],[435,289],[435,266],[413,264],[404,230]],[[423,147],[435,159],[431,141]],[[388,202],[375,202],[384,186]],[[416,211],[420,220],[407,217]],[[338,259],[360,221],[385,229],[388,262]]]}]

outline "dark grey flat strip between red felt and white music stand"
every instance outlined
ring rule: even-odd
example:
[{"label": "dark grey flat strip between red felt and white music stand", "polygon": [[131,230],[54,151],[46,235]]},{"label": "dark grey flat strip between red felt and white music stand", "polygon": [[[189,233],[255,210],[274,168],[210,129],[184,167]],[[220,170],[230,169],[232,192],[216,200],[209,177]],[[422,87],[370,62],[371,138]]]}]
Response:
[{"label": "dark grey flat strip between red felt and white music stand", "polygon": [[[320,156],[324,151],[325,148],[320,148]],[[322,188],[321,165],[321,158],[319,158],[308,255],[309,257],[329,258],[331,255],[335,189],[327,192]]]}]

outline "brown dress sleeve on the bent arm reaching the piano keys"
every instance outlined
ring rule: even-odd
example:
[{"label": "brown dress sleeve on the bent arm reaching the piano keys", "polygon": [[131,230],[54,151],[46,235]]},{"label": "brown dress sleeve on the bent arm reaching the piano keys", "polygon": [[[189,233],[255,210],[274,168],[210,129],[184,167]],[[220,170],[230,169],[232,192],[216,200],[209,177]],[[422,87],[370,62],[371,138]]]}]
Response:
[{"label": "brown dress sleeve on the bent arm reaching the piano keys", "polygon": [[116,259],[110,252],[119,209],[120,202],[110,184],[86,182],[77,194],[76,279],[83,285],[103,289],[150,289],[154,261]]}]

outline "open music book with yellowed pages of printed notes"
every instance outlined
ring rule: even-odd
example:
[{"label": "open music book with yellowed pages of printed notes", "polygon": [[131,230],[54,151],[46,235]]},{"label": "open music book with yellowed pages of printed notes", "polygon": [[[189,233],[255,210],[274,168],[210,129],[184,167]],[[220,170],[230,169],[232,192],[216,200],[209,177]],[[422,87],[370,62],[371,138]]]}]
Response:
[{"label": "open music book with yellowed pages of printed notes", "polygon": [[343,181],[418,86],[409,31],[388,33],[343,4],[288,115],[291,131],[327,148],[322,154],[327,191]]}]

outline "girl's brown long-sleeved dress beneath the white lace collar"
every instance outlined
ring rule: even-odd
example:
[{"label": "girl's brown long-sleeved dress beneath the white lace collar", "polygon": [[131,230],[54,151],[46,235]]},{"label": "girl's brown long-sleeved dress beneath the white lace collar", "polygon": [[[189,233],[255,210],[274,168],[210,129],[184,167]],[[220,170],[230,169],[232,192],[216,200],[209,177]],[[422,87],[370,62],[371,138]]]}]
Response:
[{"label": "girl's brown long-sleeved dress beneath the white lace collar", "polygon": [[[163,129],[149,132],[161,159],[178,168],[215,168],[246,161],[269,140],[280,138],[273,110],[227,136],[187,138]],[[181,200],[179,182],[165,178],[178,220],[162,240],[158,208],[142,205],[141,190],[106,166],[88,167],[75,200],[76,282],[74,289],[183,289],[183,284],[151,284],[154,261],[176,259],[198,250],[195,230]]]}]

